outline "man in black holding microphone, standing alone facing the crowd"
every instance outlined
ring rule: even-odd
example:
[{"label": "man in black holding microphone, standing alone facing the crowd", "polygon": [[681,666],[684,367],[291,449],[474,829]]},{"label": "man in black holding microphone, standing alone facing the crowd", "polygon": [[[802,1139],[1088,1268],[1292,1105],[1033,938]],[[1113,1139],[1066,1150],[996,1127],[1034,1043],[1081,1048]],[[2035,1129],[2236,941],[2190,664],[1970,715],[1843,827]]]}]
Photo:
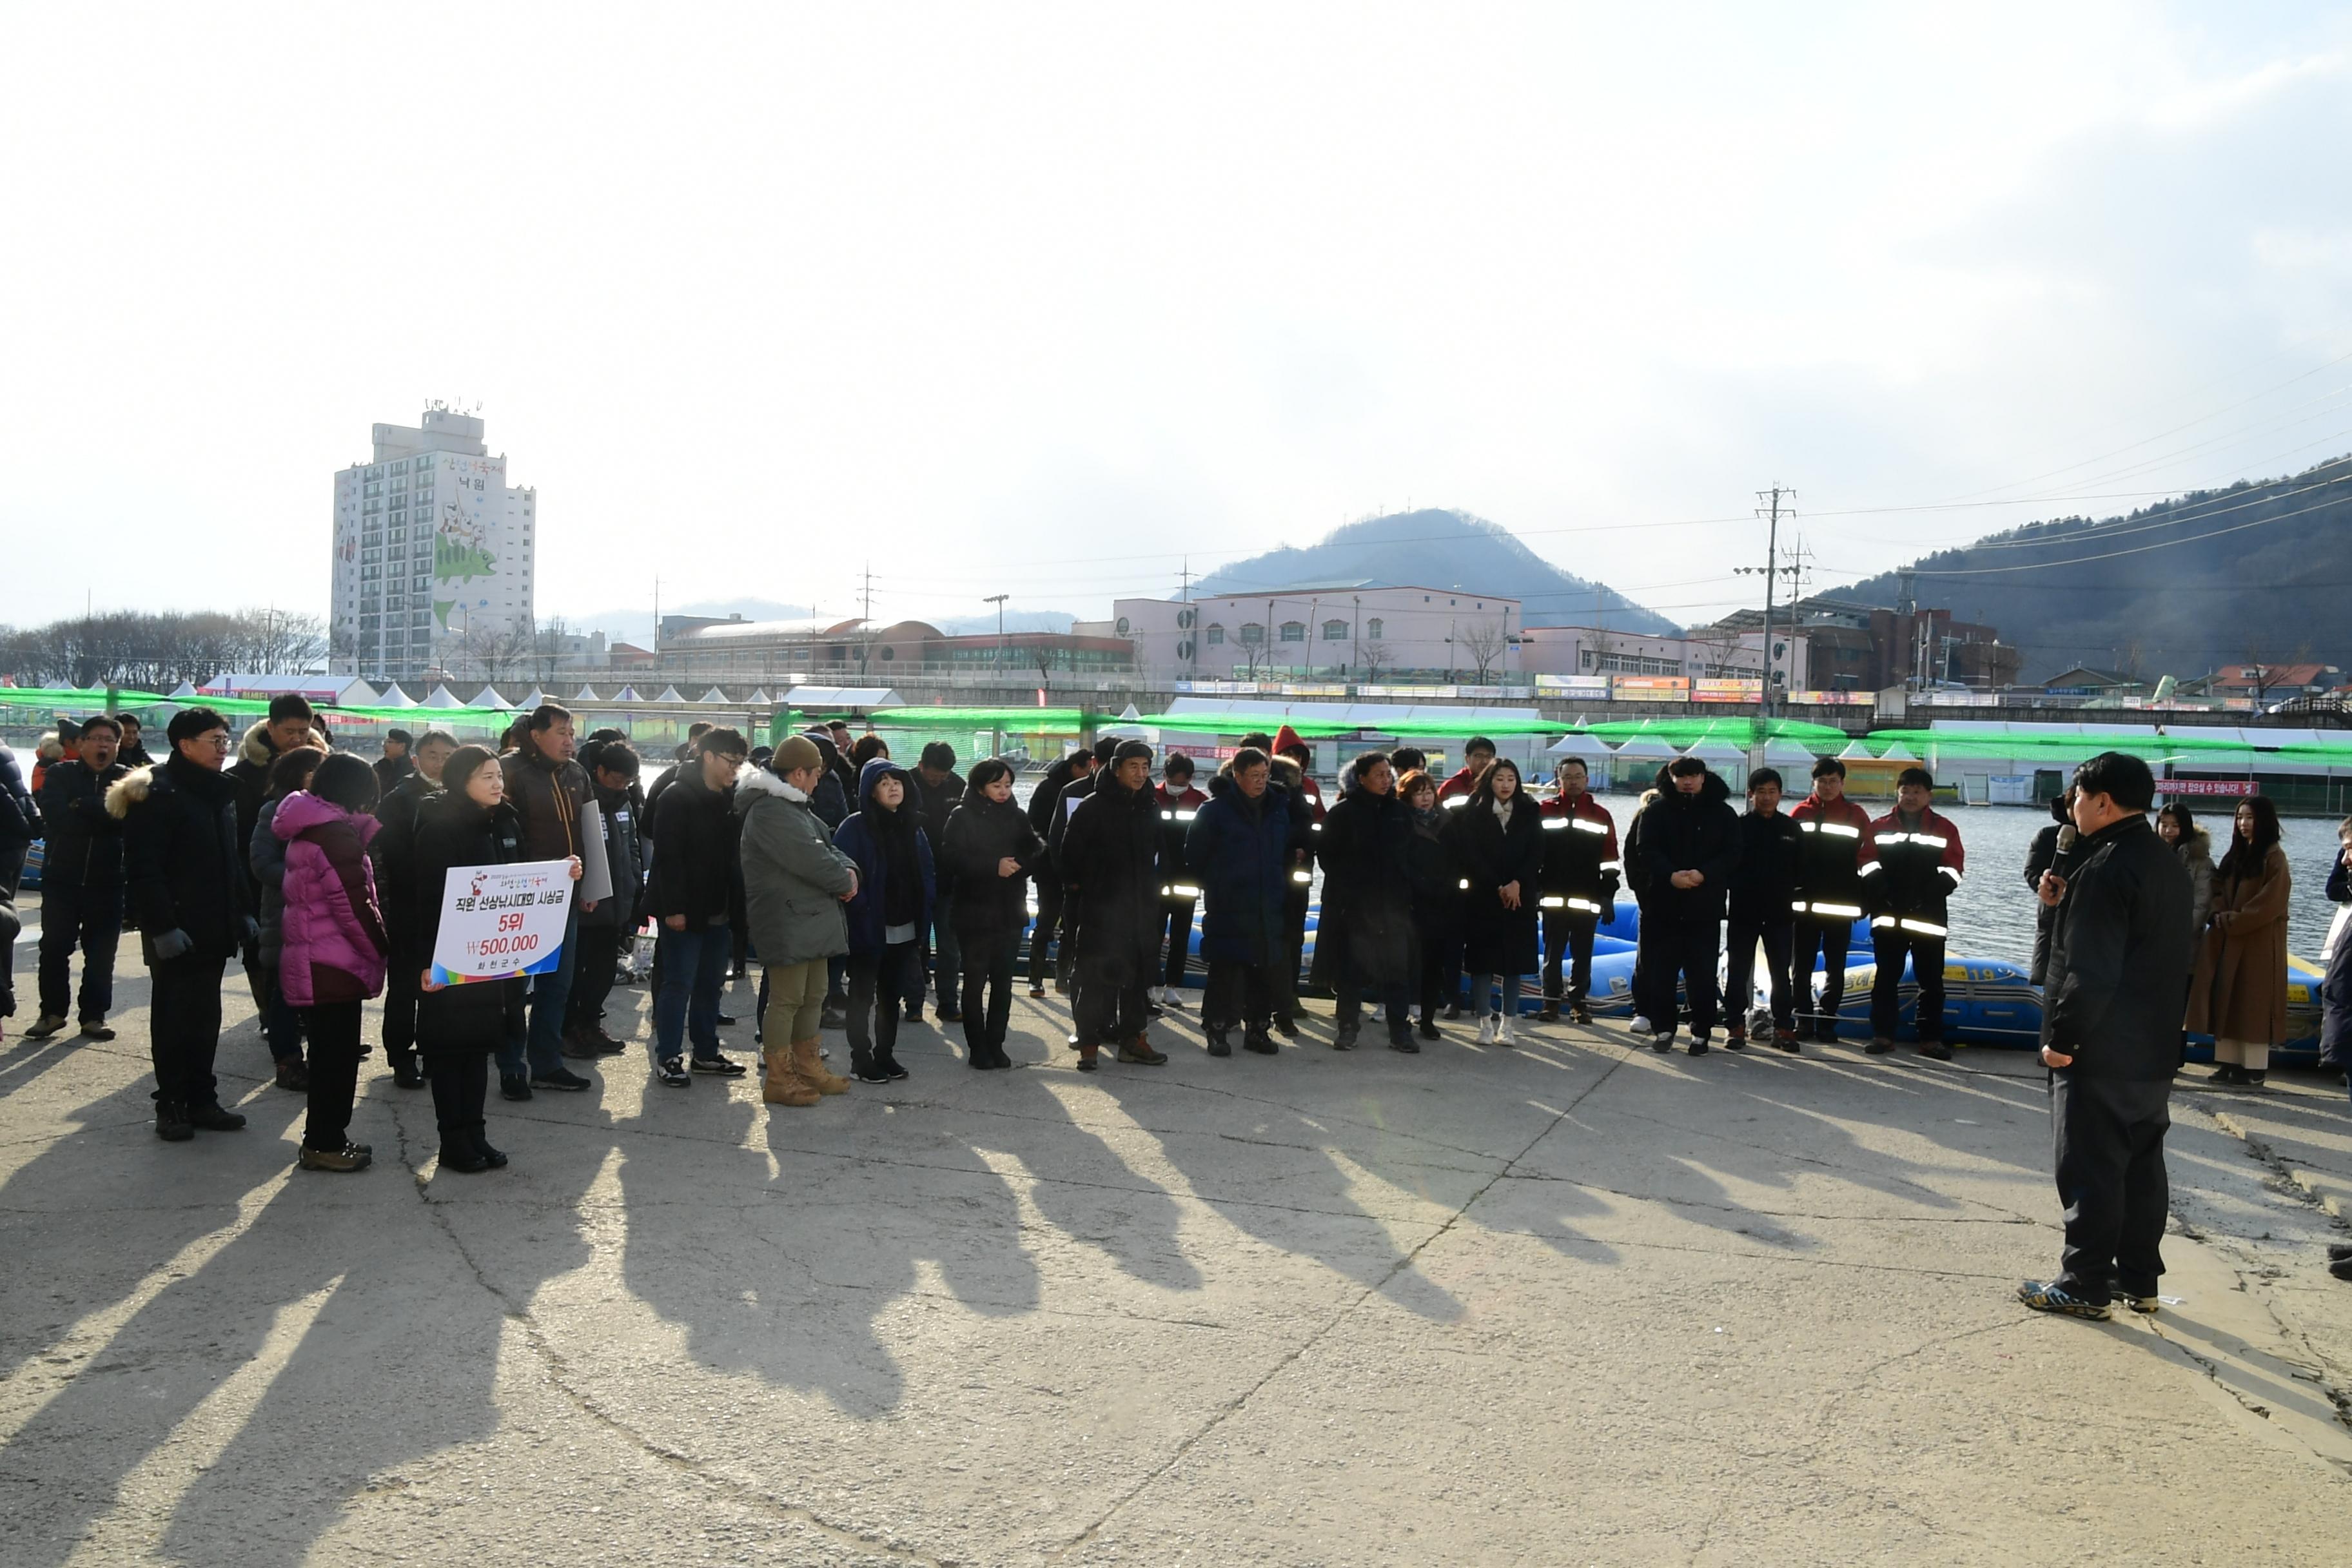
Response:
[{"label": "man in black holding microphone, standing alone facing the crowd", "polygon": [[2065,1258],[2027,1279],[2034,1312],[2105,1319],[2117,1298],[2157,1309],[2164,1260],[2164,1133],[2180,1070],[2180,976],[2190,969],[2190,875],[2147,825],[2147,764],[2100,752],[2074,769],[2079,839],[2065,877],[2037,889],[2058,910],[2042,1006]]}]

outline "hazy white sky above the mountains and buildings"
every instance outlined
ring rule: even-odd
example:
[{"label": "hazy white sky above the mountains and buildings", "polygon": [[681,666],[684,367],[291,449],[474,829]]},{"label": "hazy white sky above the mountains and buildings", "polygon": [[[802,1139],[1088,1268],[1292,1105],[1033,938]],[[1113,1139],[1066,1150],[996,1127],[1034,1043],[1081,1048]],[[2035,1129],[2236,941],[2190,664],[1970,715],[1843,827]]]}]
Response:
[{"label": "hazy white sky above the mountains and buildings", "polygon": [[1665,524],[1773,480],[1828,583],[2352,451],[2345,7],[5,16],[19,623],[325,611],[428,397],[572,616],[1101,614],[1414,503],[1698,618],[1759,529]]}]

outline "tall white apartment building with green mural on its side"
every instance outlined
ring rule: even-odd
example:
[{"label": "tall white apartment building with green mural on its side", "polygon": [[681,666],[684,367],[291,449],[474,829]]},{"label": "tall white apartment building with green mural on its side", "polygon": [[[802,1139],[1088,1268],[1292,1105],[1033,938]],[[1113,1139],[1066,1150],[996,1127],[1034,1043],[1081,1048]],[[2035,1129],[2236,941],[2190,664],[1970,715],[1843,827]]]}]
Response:
[{"label": "tall white apartment building with green mural on its side", "polygon": [[480,418],[433,404],[414,430],[376,425],[374,458],[334,475],[329,668],[421,679],[529,637],[536,510]]}]

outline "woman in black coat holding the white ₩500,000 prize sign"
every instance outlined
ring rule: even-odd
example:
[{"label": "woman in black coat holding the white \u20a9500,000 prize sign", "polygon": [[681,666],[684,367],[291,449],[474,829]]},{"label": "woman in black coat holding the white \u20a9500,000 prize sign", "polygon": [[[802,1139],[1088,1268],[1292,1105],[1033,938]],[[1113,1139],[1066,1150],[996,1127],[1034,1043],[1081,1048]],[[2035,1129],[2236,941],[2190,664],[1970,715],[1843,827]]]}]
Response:
[{"label": "woman in black coat holding the white \u20a9500,000 prize sign", "polygon": [[522,1032],[520,976],[442,985],[433,978],[433,943],[440,938],[442,889],[461,865],[510,865],[522,858],[522,820],[506,802],[506,773],[480,745],[461,745],[442,769],[442,792],[416,813],[414,952],[423,964],[416,1004],[416,1051],[433,1081],[433,1117],[440,1124],[445,1171],[489,1171],[506,1154],[489,1147],[482,1103],[489,1093],[489,1056]]}]

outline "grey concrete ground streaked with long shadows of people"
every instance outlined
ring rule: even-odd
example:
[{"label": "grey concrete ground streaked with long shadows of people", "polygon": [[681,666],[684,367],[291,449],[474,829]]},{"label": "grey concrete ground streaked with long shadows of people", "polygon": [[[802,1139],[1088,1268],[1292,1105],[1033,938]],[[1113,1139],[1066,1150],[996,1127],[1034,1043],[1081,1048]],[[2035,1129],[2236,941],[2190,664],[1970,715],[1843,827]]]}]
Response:
[{"label": "grey concrete ground streaked with long shadows of people", "polygon": [[315,1175],[235,971],[252,1126],[153,1138],[122,976],[118,1041],[0,1051],[12,1568],[2343,1561],[2317,1077],[2183,1084],[2178,1300],[2084,1324],[2011,1300],[2058,1253],[2016,1053],[1341,1056],[1317,1006],[1080,1077],[1023,997],[1016,1072],[924,1025],[816,1110],[640,1053],[492,1098],[492,1175],[372,1058],[376,1168]]}]

